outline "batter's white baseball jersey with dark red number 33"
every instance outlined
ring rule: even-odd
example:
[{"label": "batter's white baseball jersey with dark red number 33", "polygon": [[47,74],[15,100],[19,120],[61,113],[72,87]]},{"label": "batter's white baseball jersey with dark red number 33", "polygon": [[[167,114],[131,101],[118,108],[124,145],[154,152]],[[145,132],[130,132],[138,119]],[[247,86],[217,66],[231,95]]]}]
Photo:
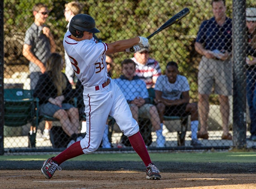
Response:
[{"label": "batter's white baseball jersey with dark red number 33", "polygon": [[108,78],[105,55],[107,43],[97,43],[94,38],[76,41],[70,35],[69,31],[64,35],[63,46],[77,78],[84,87],[101,85]]}]

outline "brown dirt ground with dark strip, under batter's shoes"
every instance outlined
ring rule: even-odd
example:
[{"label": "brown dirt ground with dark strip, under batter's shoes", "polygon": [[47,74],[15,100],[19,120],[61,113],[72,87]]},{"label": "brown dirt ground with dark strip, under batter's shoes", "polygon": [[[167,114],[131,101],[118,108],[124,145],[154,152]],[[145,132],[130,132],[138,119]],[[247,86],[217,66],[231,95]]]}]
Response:
[{"label": "brown dirt ground with dark strip, under batter's shoes", "polygon": [[256,163],[156,162],[162,180],[147,180],[141,162],[67,161],[50,179],[41,161],[0,161],[1,189],[256,189]]}]

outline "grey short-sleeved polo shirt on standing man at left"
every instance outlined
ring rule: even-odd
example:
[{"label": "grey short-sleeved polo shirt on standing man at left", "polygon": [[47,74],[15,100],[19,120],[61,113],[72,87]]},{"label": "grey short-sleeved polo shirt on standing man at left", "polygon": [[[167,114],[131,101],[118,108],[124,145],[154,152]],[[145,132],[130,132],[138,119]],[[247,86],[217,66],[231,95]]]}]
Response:
[{"label": "grey short-sleeved polo shirt on standing man at left", "polygon": [[[33,23],[25,34],[24,44],[31,45],[31,52],[46,65],[46,61],[51,54],[50,41],[43,34],[43,26]],[[40,68],[33,62],[29,62],[29,71],[40,72]]]}]

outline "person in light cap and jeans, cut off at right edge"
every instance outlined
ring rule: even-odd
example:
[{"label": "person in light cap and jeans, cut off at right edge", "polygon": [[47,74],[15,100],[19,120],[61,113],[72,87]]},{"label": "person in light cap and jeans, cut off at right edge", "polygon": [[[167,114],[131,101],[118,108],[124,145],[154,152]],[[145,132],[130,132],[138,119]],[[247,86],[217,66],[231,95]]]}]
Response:
[{"label": "person in light cap and jeans, cut off at right edge", "polygon": [[249,139],[256,141],[256,8],[246,9],[246,26],[248,36],[247,57],[247,102],[251,118]]}]

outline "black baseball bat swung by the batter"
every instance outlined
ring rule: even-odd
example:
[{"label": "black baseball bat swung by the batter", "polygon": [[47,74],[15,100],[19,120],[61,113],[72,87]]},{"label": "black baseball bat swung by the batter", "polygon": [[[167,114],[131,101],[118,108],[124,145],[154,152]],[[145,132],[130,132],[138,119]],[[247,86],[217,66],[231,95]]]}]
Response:
[{"label": "black baseball bat swung by the batter", "polygon": [[160,31],[168,28],[169,26],[177,23],[180,19],[182,19],[183,17],[185,17],[188,13],[190,13],[190,9],[188,9],[187,7],[184,8],[182,11],[178,12],[177,14],[175,14],[173,17],[171,17],[170,19],[168,19],[168,21],[166,21],[162,26],[160,26],[160,28],[158,28],[156,31],[154,31],[154,33],[152,33],[151,35],[149,35],[147,37],[147,39],[152,38],[154,35],[156,35],[156,33],[159,33]]}]

